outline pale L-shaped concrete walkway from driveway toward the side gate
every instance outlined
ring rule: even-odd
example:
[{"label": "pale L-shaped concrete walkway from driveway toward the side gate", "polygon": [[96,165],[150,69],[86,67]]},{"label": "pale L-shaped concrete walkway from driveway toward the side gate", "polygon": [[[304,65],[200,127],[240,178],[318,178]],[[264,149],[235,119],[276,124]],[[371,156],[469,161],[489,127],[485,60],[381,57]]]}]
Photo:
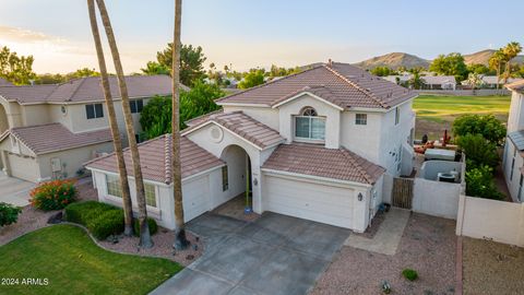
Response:
[{"label": "pale L-shaped concrete walkway from driveway toward the side gate", "polygon": [[392,208],[385,214],[385,220],[373,238],[350,235],[344,245],[383,255],[395,255],[409,214],[408,210]]}]

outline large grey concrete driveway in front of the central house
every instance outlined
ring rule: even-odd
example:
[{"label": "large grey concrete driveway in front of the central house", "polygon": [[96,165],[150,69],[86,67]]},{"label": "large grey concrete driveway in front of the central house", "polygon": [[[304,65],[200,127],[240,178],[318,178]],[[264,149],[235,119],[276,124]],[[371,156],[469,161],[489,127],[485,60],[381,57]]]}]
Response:
[{"label": "large grey concrete driveway in front of the central house", "polygon": [[349,235],[270,212],[252,223],[206,213],[188,228],[204,255],[152,294],[307,294]]}]

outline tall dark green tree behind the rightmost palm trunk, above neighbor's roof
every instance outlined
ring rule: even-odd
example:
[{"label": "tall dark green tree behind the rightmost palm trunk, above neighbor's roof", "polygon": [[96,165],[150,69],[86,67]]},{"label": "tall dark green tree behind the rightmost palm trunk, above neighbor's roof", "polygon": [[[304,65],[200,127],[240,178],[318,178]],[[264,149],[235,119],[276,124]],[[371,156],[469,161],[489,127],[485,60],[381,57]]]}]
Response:
[{"label": "tall dark green tree behind the rightmost palm trunk, above neighbor's roof", "polygon": [[[167,48],[156,54],[158,63],[168,69],[172,68],[172,43],[167,44]],[[180,82],[192,86],[196,80],[204,78],[204,61],[207,58],[202,52],[202,47],[192,45],[182,45],[180,48]]]}]

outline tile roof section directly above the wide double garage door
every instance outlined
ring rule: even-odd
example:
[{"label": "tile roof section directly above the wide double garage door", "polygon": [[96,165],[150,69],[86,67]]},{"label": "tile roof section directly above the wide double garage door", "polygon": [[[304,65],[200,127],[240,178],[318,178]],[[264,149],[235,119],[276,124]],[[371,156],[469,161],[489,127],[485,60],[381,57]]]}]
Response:
[{"label": "tile roof section directly above the wide double garage door", "polygon": [[385,172],[346,149],[325,149],[308,143],[279,145],[262,168],[368,185],[374,184]]}]

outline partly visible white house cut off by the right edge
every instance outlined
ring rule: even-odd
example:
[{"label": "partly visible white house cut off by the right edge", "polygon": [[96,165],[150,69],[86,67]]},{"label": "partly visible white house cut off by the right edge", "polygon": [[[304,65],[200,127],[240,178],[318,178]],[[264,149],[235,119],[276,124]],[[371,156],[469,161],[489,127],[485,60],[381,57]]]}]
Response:
[{"label": "partly visible white house cut off by the right edge", "polygon": [[524,80],[507,84],[505,87],[510,90],[512,94],[502,167],[511,198],[514,202],[523,202]]}]

